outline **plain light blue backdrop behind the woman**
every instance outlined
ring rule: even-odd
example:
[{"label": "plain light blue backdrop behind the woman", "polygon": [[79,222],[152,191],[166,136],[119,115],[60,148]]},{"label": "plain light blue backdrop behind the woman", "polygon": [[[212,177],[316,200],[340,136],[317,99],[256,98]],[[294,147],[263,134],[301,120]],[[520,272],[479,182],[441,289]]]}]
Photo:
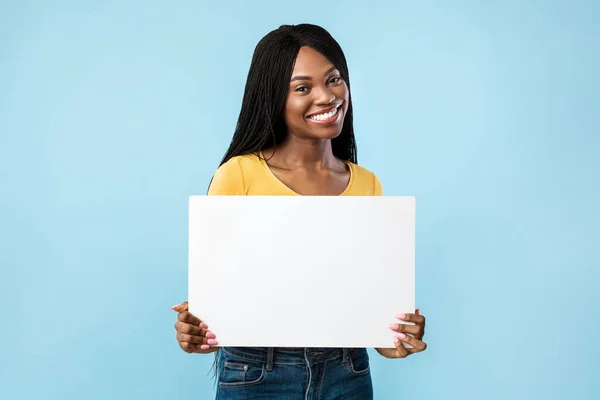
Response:
[{"label": "plain light blue backdrop behind the woman", "polygon": [[359,163],[417,197],[429,349],[371,353],[376,398],[598,398],[599,3],[217,3],[0,3],[0,398],[211,398],[170,310],[188,195],[300,22],[346,53]]}]

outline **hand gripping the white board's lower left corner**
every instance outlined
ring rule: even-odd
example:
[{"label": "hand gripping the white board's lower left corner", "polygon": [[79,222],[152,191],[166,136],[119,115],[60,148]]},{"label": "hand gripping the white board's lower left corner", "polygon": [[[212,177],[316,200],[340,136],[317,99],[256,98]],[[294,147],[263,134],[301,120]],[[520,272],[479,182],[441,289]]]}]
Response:
[{"label": "hand gripping the white board's lower left corner", "polygon": [[218,351],[216,335],[208,330],[208,325],[188,311],[188,302],[171,307],[177,312],[177,342],[186,353],[209,354]]}]

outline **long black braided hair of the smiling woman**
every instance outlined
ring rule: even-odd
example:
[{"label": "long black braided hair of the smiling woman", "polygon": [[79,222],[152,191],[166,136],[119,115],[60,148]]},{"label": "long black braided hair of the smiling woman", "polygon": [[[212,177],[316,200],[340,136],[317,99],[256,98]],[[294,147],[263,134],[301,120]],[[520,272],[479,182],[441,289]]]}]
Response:
[{"label": "long black braided hair of the smiling woman", "polygon": [[[257,154],[285,139],[287,128],[283,112],[296,57],[302,46],[323,54],[340,71],[350,91],[346,57],[325,29],[300,24],[282,25],[269,32],[254,50],[235,132],[220,165],[235,156]],[[350,94],[342,131],[331,144],[334,156],[357,163]]]}]

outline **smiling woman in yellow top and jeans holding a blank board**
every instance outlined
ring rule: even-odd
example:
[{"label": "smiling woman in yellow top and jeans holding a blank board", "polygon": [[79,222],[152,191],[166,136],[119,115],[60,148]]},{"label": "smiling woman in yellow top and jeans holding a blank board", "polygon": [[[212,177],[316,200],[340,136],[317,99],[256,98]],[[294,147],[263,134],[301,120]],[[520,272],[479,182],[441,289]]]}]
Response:
[{"label": "smiling woman in yellow top and jeans holding a blank board", "polygon": [[[381,196],[375,174],[356,163],[348,67],[338,43],[308,24],[267,34],[255,49],[233,140],[209,195]],[[184,351],[219,350],[215,333],[187,311],[187,302],[173,309]],[[394,348],[379,354],[404,358],[425,350],[419,311],[396,318],[415,325],[391,324]],[[222,399],[373,397],[366,349],[225,347],[217,379]]]}]

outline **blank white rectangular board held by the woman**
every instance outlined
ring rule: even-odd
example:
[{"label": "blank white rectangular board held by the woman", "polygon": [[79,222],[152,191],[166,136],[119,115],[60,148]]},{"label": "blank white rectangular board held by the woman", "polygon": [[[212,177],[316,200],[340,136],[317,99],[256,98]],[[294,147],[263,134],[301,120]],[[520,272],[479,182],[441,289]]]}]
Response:
[{"label": "blank white rectangular board held by the woman", "polygon": [[188,290],[220,346],[394,347],[415,198],[190,196]]}]

